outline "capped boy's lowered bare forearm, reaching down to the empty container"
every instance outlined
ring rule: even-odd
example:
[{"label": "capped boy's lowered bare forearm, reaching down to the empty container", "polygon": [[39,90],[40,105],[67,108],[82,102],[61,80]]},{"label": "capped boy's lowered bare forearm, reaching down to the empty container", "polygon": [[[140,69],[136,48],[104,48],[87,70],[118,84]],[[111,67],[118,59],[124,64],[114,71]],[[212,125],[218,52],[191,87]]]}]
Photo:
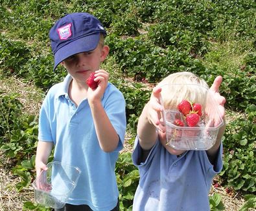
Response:
[{"label": "capped boy's lowered bare forearm, reaching down to the empty container", "polygon": [[48,157],[51,154],[53,143],[50,141],[38,141],[36,148],[36,176],[39,176],[41,170],[47,170]]}]

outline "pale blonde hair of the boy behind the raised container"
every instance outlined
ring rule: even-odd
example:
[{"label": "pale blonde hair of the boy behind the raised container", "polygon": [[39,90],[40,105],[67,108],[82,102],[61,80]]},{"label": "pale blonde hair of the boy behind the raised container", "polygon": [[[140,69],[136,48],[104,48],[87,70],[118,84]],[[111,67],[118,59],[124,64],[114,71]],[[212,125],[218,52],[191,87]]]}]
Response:
[{"label": "pale blonde hair of the boy behind the raised container", "polygon": [[177,108],[187,99],[191,103],[200,103],[205,107],[209,86],[191,72],[177,72],[165,77],[157,86],[161,87],[161,98],[165,109]]}]

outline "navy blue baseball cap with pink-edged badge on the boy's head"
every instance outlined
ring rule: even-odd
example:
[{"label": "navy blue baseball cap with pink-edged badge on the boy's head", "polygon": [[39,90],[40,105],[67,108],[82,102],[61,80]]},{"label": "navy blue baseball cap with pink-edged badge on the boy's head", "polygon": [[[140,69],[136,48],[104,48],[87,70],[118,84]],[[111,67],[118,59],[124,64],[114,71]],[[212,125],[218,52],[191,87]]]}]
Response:
[{"label": "navy blue baseball cap with pink-edged badge on the boy's head", "polygon": [[67,14],[52,26],[49,37],[54,54],[54,68],[67,57],[94,50],[100,33],[106,35],[100,21],[91,14],[76,12]]}]

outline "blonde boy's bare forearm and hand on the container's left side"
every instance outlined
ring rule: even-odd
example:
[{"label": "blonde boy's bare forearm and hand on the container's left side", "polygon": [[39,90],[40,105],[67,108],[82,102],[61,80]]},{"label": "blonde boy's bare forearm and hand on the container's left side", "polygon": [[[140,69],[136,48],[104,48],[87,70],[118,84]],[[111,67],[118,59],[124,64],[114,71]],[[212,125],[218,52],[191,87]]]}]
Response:
[{"label": "blonde boy's bare forearm and hand on the container's left side", "polygon": [[162,110],[160,92],[161,88],[155,87],[153,89],[150,100],[146,103],[139,117],[137,136],[139,137],[139,145],[143,150],[150,150],[156,143],[156,128],[162,131],[165,130],[165,127],[160,122]]}]

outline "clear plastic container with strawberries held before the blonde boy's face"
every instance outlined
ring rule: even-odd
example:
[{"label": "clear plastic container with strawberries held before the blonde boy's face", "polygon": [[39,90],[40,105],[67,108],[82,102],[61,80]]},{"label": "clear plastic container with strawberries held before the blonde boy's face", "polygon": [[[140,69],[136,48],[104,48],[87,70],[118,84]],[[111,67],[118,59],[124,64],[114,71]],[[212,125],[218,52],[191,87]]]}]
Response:
[{"label": "clear plastic container with strawberries held before the blonde boy's face", "polygon": [[[175,108],[165,108],[163,99],[161,104],[165,110],[162,113],[166,126],[167,145],[177,150],[208,150],[216,143],[219,128],[224,125],[224,121],[220,116],[217,103],[213,97],[213,92],[209,88],[198,85],[165,85],[170,86],[167,90],[174,93]],[[186,87],[185,87],[186,86]],[[187,90],[186,93],[180,91]],[[202,97],[198,97],[196,93],[205,95],[204,101]],[[166,94],[166,93],[161,93]],[[184,97],[185,96],[185,97]],[[191,96],[191,98],[189,98]],[[175,119],[180,119],[186,124],[185,116],[178,110],[177,105],[187,99],[194,103],[202,104],[202,116],[196,126],[177,126],[174,125]],[[200,102],[197,100],[201,99]]]}]

